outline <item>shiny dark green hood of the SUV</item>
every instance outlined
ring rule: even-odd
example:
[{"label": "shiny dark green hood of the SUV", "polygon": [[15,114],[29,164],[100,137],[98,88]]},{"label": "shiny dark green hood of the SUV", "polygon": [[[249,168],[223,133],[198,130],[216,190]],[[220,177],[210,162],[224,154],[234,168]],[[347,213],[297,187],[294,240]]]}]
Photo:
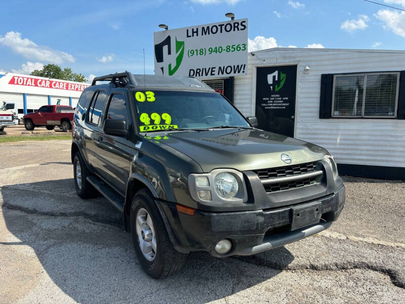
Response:
[{"label": "shiny dark green hood of the SUV", "polygon": [[[328,154],[311,143],[257,129],[173,132],[158,140],[192,158],[204,172],[282,167],[319,161]],[[291,164],[281,160],[282,153],[292,158]]]}]

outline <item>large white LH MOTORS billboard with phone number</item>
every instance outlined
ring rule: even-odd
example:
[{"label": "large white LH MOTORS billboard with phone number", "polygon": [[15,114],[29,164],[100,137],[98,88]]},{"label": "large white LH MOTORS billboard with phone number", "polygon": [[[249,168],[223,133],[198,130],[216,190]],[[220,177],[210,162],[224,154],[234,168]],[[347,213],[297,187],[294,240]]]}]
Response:
[{"label": "large white LH MOTORS billboard with phone number", "polygon": [[155,74],[200,78],[246,75],[248,19],[153,33]]}]

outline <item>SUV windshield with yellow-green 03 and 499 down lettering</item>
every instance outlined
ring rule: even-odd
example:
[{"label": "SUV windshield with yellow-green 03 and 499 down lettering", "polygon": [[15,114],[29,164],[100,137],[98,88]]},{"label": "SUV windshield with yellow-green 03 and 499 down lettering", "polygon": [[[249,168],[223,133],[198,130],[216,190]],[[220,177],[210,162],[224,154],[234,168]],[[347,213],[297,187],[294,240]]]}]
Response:
[{"label": "SUV windshield with yellow-green 03 and 499 down lettering", "polygon": [[141,132],[250,128],[245,118],[218,93],[134,91],[133,94]]}]

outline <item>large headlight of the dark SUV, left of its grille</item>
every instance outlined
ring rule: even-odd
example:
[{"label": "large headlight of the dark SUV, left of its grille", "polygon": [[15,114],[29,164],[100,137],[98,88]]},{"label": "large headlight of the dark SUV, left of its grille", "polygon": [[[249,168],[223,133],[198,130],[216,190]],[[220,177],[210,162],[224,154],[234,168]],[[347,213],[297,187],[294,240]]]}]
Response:
[{"label": "large headlight of the dark SUV, left of its grille", "polygon": [[191,197],[201,203],[245,203],[248,192],[243,174],[233,169],[215,169],[210,173],[190,174]]}]

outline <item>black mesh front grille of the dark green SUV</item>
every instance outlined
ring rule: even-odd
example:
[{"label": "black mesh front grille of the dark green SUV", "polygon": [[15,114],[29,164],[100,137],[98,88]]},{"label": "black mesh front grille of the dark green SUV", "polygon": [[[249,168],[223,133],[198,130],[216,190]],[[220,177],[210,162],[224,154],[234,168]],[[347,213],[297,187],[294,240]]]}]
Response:
[{"label": "black mesh front grille of the dark green SUV", "polygon": [[[316,171],[316,167],[317,167],[317,162],[311,162],[311,163],[286,166],[286,167],[254,170],[253,172],[255,172],[259,176],[259,178],[261,180],[263,180],[263,183],[265,183],[264,180],[268,181],[268,180],[276,179],[276,178],[291,177],[291,176],[296,176],[299,174],[314,172],[314,171]],[[296,189],[296,188],[300,188],[300,187],[310,186],[310,185],[315,184],[316,182],[317,182],[317,177],[314,176],[314,177],[307,177],[307,178],[291,180],[291,181],[284,180],[279,183],[274,181],[274,183],[263,184],[263,186],[267,193],[273,193],[273,192],[280,192],[280,191],[286,191],[286,190],[290,190],[290,189]]]}]

